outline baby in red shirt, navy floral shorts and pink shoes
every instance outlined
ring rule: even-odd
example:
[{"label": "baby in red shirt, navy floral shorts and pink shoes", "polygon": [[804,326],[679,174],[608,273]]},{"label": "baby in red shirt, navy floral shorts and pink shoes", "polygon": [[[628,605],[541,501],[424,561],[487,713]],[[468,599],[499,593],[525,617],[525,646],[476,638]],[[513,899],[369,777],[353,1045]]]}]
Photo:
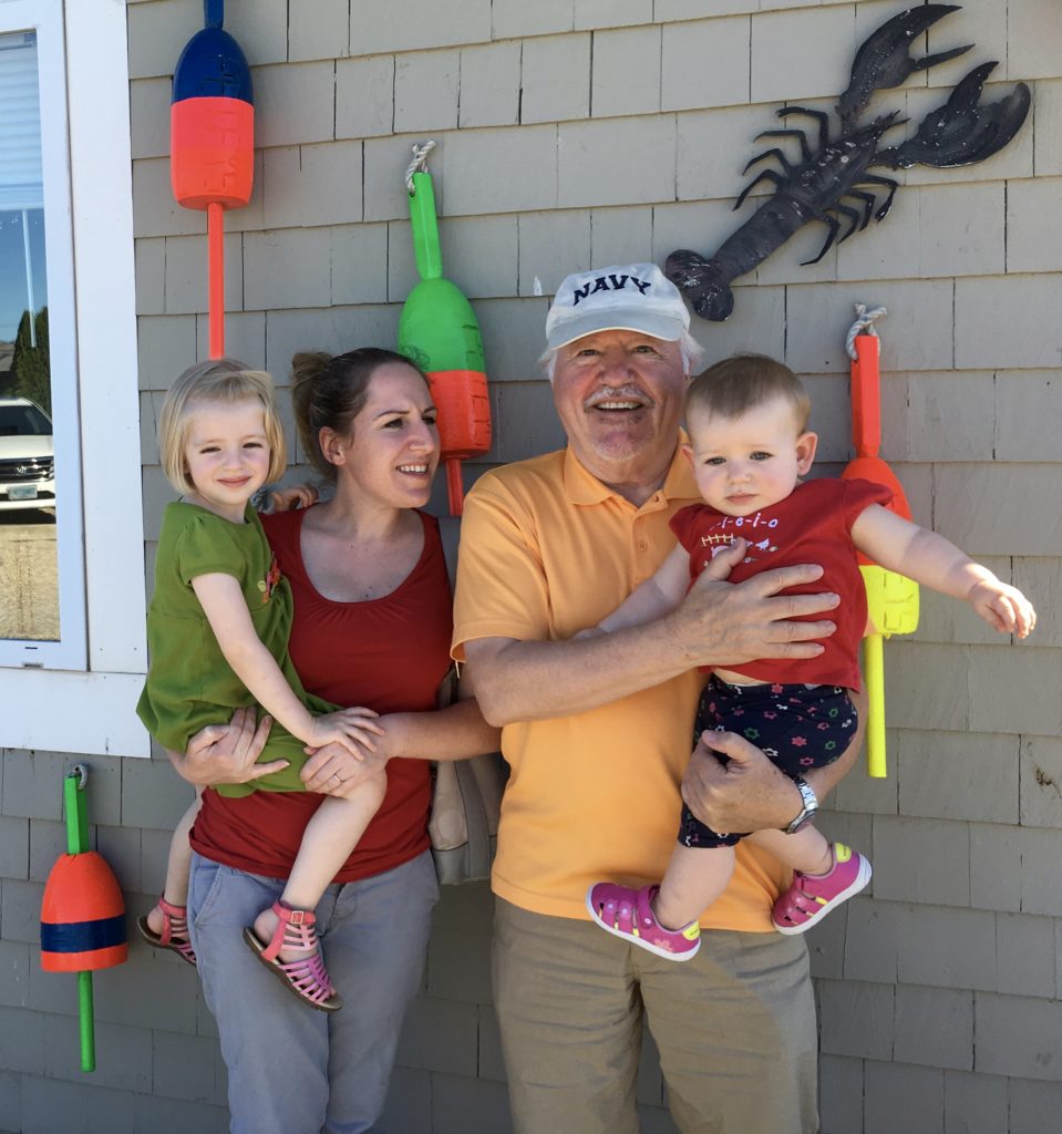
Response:
[{"label": "baby in red shirt, navy floral shorts and pink shoes", "polygon": [[[597,882],[587,892],[591,916],[603,929],[673,960],[699,947],[697,919],[725,889],[734,845],[749,838],[793,870],[775,903],[780,933],[802,933],[870,880],[870,864],[812,826],[815,793],[801,771],[832,763],[855,735],[849,697],[859,688],[858,649],[866,626],[866,593],[856,552],[943,594],[969,602],[989,626],[1026,637],[1036,625],[1031,603],[941,535],[889,511],[891,492],[869,481],[802,481],[818,438],[807,430],[810,399],[781,363],[739,355],[696,378],[687,393],[690,460],[704,503],[671,522],[678,547],[660,570],[597,627],[611,633],[661,618],[678,607],[713,557],[738,540],[745,558],[729,581],[790,564],[818,564],[823,576],[802,590],[834,591],[838,628],[823,653],[713,667],[697,713],[705,730],[737,733],[800,789],[805,806],[785,830],[716,832],[683,810],[679,843],[660,886],[640,890]],[[799,590],[799,589],[798,589]]]}]

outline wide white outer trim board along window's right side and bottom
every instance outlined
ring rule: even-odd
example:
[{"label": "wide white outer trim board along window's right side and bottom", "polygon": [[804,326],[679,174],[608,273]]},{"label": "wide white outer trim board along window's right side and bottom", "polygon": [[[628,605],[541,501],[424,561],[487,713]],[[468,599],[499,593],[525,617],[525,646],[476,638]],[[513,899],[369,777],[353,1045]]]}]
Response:
[{"label": "wide white outer trim board along window's right side and bottom", "polygon": [[[0,22],[31,27],[50,7],[0,0]],[[147,756],[134,716],[147,644],[126,7],[66,0],[65,28],[88,671],[0,669],[0,747]]]}]

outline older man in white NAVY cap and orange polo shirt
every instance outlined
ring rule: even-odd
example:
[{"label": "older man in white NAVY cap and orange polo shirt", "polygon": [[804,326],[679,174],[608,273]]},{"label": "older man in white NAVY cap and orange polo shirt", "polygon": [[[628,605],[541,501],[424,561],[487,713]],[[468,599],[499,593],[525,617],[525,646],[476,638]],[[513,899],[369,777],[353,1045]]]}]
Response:
[{"label": "older man in white NAVY cap and orange polo shirt", "polygon": [[679,442],[700,349],[652,264],[568,277],[546,338],[568,447],[487,473],[469,493],[453,638],[512,767],[493,889],[516,1128],[635,1134],[647,1023],[680,1129],[812,1134],[814,1004],[802,938],[771,925],[780,865],[742,843],[697,956],[680,965],[602,933],[585,895],[602,877],[663,875],[680,790],[716,830],[791,829],[814,812],[855,745],[804,793],[734,736],[713,742],[729,763],[703,747],[691,760],[696,667],[814,657],[836,596],[779,593],[813,582],[815,566],[722,582],[739,545],[674,615],[572,641],[655,572],[674,544],[669,519],[699,499]]}]

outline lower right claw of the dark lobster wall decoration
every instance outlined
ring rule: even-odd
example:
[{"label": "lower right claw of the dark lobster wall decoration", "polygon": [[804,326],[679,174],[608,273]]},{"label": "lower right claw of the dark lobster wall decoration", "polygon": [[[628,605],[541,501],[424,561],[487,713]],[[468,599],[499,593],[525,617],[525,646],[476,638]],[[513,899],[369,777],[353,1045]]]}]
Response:
[{"label": "lower right claw of the dark lobster wall decoration", "polygon": [[1018,83],[1002,99],[979,107],[982,87],[995,67],[996,61],[975,67],[943,107],[926,115],[914,137],[882,150],[873,163],[890,169],[970,166],[1002,150],[1021,129],[1031,95],[1025,83]]}]

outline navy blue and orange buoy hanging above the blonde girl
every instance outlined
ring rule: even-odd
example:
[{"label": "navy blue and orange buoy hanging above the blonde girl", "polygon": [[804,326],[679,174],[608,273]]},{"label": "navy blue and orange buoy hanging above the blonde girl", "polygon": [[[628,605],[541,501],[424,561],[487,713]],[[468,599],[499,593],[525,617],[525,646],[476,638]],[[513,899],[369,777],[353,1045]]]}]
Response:
[{"label": "navy blue and orange buoy hanging above the blonde girl", "polygon": [[173,69],[170,179],[177,203],[206,212],[210,356],[224,354],[227,209],[243,209],[254,187],[250,68],[223,31],[223,0],[204,0],[203,23]]}]

